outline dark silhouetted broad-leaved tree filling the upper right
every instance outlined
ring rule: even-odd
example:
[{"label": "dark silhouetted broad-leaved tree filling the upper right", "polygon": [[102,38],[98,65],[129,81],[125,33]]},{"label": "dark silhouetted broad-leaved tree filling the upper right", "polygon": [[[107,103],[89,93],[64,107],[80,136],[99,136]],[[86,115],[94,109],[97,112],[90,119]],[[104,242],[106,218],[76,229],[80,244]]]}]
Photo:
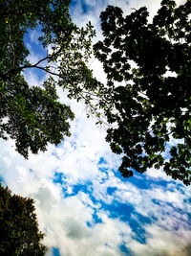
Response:
[{"label": "dark silhouetted broad-leaved tree filling the upper right", "polygon": [[[107,74],[107,141],[123,153],[119,171],[163,170],[191,183],[191,1],[161,1],[152,23],[145,7],[126,17],[101,12],[104,39],[94,46]],[[178,139],[173,146],[170,139]]]}]

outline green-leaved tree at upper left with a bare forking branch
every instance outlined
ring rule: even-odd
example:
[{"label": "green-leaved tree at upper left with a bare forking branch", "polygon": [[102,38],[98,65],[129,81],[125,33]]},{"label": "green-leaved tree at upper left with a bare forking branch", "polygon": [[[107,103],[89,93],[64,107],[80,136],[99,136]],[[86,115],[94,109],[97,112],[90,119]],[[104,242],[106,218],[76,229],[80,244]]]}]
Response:
[{"label": "green-leaved tree at upper left with a bare forking branch", "polygon": [[[29,151],[45,151],[70,135],[70,107],[60,104],[56,85],[69,97],[89,102],[96,80],[85,61],[95,35],[89,23],[78,29],[71,20],[68,0],[3,0],[0,2],[0,137],[15,140],[16,151],[28,158]],[[24,36],[36,26],[47,55],[30,63]],[[23,72],[38,69],[49,75],[42,86],[29,86]]]}]

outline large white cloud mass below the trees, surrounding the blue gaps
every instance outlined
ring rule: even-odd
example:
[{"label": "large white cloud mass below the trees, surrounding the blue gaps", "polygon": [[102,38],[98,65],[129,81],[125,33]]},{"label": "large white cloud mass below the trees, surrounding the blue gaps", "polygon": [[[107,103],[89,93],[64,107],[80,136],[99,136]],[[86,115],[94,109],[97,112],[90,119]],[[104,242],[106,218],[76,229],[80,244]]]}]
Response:
[{"label": "large white cloud mass below the trees, surrounding the blue gaps", "polygon": [[[83,106],[78,105],[71,138],[66,138],[58,148],[50,145],[44,153],[31,154],[28,161],[14,151],[11,141],[2,141],[1,175],[6,184],[14,193],[35,199],[40,228],[46,231],[45,243],[49,247],[58,247],[62,256],[76,255],[76,252],[77,255],[120,255],[120,244],[130,247],[136,255],[154,255],[164,248],[171,253],[169,255],[176,255],[189,243],[189,232],[182,227],[173,234],[173,226],[176,223],[183,226],[188,220],[185,214],[180,215],[166,203],[179,207],[182,212],[188,211],[184,200],[189,198],[190,189],[183,188],[184,194],[176,189],[176,184],[171,184],[171,191],[156,186],[151,186],[148,190],[138,189],[128,180],[121,181],[112,170],[107,174],[98,171],[97,162],[100,156],[106,156],[110,169],[112,166],[117,168],[119,157],[109,150],[104,141],[104,132],[94,126],[93,120],[85,119],[82,109]],[[82,115],[81,118],[79,115]],[[107,162],[100,166],[107,169]],[[90,184],[89,189],[93,190],[92,196],[99,202],[93,202],[92,196],[84,192],[64,198],[62,186],[53,183],[55,171],[65,175],[63,188],[70,188],[71,194],[75,184],[91,181],[93,185]],[[108,195],[108,187],[115,187],[117,191]],[[142,216],[151,219],[154,216],[158,220],[155,223],[145,225],[142,222],[142,227],[149,234],[147,244],[139,244],[132,239],[133,232],[128,223],[109,218],[110,212],[100,209],[101,200],[111,205],[114,200],[130,203]],[[161,205],[153,200],[159,200]],[[95,223],[95,211],[102,222]],[[166,226],[169,228],[167,231]],[[181,239],[182,236],[184,240]],[[51,255],[51,250],[49,254]]]}]

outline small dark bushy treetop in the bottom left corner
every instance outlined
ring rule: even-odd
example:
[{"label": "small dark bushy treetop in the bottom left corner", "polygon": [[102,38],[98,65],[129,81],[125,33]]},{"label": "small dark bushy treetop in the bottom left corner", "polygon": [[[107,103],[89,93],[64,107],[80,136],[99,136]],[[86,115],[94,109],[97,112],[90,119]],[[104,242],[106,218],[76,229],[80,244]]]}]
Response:
[{"label": "small dark bushy treetop in the bottom left corner", "polygon": [[45,255],[44,235],[38,230],[34,210],[32,198],[12,196],[0,183],[1,255]]}]

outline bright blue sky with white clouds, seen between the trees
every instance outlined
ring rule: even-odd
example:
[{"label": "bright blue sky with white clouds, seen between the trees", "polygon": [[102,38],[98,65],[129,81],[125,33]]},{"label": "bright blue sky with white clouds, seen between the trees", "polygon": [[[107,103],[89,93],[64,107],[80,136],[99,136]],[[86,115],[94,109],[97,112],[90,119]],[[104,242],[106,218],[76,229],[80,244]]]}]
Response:
[{"label": "bright blue sky with white clouds, seen between the trees", "polygon": [[[101,38],[99,13],[116,5],[124,13],[146,6],[152,15],[159,0],[73,0],[71,14],[78,26],[91,20],[95,40]],[[183,1],[177,1],[178,4]],[[26,43],[30,60],[43,56],[38,31]],[[101,64],[92,58],[95,76],[105,81]],[[31,85],[45,77],[25,73]],[[162,170],[124,179],[117,168],[120,155],[105,141],[106,128],[86,117],[86,106],[69,100],[75,119],[71,137],[45,152],[24,159],[14,142],[0,140],[0,178],[12,193],[35,200],[39,228],[46,236],[47,256],[189,256],[191,255],[191,186]]]}]

